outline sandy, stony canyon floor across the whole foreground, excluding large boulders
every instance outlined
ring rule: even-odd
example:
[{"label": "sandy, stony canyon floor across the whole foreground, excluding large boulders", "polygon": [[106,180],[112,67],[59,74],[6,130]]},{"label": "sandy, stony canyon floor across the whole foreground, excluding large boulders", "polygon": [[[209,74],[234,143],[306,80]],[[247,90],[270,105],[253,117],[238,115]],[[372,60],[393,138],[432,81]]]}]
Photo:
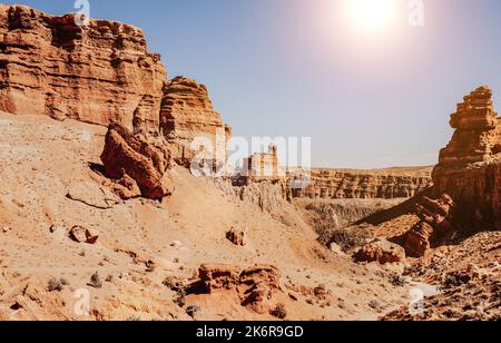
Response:
[{"label": "sandy, stony canyon floor across the whole foreground, excluding large boulders", "polygon": [[[272,216],[176,167],[171,197],[124,202],[99,174],[106,128],[4,112],[0,128],[1,320],[499,318],[499,233],[404,265],[355,264],[318,243],[315,224],[328,219],[318,204],[334,206],[347,222],[382,210],[360,226],[391,238],[418,220],[394,214],[402,199],[298,199],[281,203]],[[97,243],[71,239],[73,227],[96,233]],[[226,239],[232,228],[246,232],[245,246]],[[269,311],[245,306],[230,287],[180,292],[196,284],[203,264],[275,266],[278,291]],[[461,271],[471,284],[450,277]],[[430,285],[445,292],[426,294]],[[415,287],[435,304],[425,317],[409,315]],[[87,295],[88,315],[79,311]]]}]

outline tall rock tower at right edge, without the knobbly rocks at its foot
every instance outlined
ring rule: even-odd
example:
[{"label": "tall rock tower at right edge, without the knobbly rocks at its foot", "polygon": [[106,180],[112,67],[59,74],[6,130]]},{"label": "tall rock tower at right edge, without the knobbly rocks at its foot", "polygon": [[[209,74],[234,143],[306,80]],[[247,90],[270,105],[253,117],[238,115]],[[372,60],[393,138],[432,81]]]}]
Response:
[{"label": "tall rock tower at right edge, without the knobbly rocks at its foot", "polygon": [[483,86],[464,97],[451,126],[455,133],[433,170],[435,195],[449,194],[465,223],[499,226],[501,126],[492,90]]}]

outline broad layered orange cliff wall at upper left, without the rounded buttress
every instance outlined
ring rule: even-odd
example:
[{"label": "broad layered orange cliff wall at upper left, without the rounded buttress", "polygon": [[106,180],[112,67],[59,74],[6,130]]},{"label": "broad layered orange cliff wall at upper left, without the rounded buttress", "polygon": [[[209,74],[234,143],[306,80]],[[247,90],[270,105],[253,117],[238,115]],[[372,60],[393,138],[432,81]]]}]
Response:
[{"label": "broad layered orange cliff wall at upper left, without the rounded buttress", "polygon": [[0,4],[0,110],[157,130],[166,71],[143,31]]}]

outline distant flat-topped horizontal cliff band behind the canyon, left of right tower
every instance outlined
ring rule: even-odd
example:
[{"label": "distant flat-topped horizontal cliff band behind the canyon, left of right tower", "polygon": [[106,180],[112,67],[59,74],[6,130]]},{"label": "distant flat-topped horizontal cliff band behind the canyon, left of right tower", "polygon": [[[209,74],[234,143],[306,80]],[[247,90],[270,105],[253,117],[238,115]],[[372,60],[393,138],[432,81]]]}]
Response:
[{"label": "distant flat-topped horizontal cliff band behind the canyon, left of right tower", "polygon": [[430,168],[384,170],[313,169],[311,184],[295,197],[372,199],[410,198],[431,186]]}]

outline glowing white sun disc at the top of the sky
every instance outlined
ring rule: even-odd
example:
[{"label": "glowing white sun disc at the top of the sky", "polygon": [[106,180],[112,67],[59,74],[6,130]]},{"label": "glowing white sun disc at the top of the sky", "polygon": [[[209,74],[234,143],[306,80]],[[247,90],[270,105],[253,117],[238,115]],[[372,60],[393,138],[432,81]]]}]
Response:
[{"label": "glowing white sun disc at the top of the sky", "polygon": [[350,23],[362,33],[377,35],[393,22],[394,0],[345,0]]}]

